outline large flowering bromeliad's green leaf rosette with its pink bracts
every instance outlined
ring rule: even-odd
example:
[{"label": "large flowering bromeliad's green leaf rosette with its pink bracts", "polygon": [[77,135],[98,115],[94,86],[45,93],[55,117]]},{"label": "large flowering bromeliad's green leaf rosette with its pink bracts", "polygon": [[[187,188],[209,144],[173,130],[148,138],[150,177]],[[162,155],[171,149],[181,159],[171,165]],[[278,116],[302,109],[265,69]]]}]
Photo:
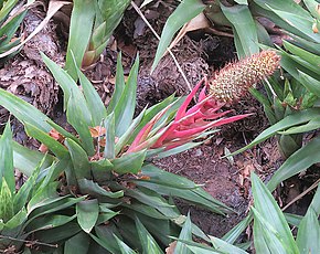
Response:
[{"label": "large flowering bromeliad's green leaf rosette with its pink bracts", "polygon": [[[263,60],[264,54],[260,56]],[[33,106],[0,89],[0,105],[23,123],[26,134],[39,140],[42,144],[40,150],[46,152],[12,145],[14,167],[28,176],[33,176],[36,163],[42,161],[33,177],[33,182],[41,187],[34,192],[41,207],[34,207],[30,214],[26,212],[25,221],[32,220],[31,225],[56,225],[51,231],[34,231],[39,227],[26,223],[20,234],[12,236],[14,240],[10,239],[10,244],[32,240],[41,250],[56,248],[65,253],[75,245],[84,253],[134,253],[132,250],[162,253],[162,247],[171,241],[168,236],[178,236],[185,221],[174,205],[173,197],[220,214],[231,211],[200,186],[147,161],[198,146],[202,141],[193,140],[212,135],[216,131],[211,130],[213,127],[247,115],[225,117],[228,112],[220,110],[223,103],[215,99],[214,93],[206,94],[206,86],[196,104],[189,108],[192,97],[203,85],[202,81],[185,99],[170,96],[134,118],[138,59],[125,83],[119,56],[115,93],[107,108],[78,68],[81,87],[45,55],[43,61],[64,92],[66,118],[74,131],[66,131]],[[255,70],[257,66],[250,67]],[[10,182],[12,186],[12,180]],[[56,200],[51,202],[52,197]],[[26,204],[26,211],[28,200],[19,203],[20,208]],[[50,202],[47,207],[46,202]],[[40,214],[39,222],[33,221],[33,214]],[[57,223],[49,221],[51,215],[67,218]],[[32,237],[26,233],[29,229]],[[192,225],[192,232],[205,237],[195,225]]]}]

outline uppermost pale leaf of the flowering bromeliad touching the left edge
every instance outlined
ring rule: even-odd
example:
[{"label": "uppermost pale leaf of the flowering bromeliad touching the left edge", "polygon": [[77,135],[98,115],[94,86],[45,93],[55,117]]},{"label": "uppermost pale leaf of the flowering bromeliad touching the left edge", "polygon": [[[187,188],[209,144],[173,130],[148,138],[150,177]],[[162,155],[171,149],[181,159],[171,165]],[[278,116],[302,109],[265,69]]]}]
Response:
[{"label": "uppermost pale leaf of the flowering bromeliad touching the left edge", "polygon": [[0,88],[0,105],[6,107],[20,121],[32,124],[45,133],[51,130],[51,126],[46,123],[49,120],[47,116],[2,88]]}]

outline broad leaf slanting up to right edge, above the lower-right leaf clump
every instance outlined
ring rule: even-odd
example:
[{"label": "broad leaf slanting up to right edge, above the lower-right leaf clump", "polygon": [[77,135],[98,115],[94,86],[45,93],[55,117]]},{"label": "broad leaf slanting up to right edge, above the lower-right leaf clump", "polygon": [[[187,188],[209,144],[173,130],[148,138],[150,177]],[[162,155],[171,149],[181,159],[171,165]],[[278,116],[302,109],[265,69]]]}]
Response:
[{"label": "broad leaf slanting up to right edge, above the lower-right leaf clump", "polygon": [[291,155],[275,172],[267,187],[270,191],[286,179],[308,169],[313,163],[320,162],[316,151],[320,149],[320,137],[317,137]]}]

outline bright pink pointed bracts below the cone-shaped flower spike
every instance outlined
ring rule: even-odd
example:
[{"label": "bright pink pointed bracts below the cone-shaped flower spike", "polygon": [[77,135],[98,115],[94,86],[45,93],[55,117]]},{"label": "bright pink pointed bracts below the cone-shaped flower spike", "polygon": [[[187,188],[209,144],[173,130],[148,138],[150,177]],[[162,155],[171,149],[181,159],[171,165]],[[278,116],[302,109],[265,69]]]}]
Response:
[{"label": "bright pink pointed bracts below the cone-shaped flower spike", "polygon": [[250,115],[245,114],[228,118],[221,118],[231,110],[218,112],[224,104],[215,100],[213,95],[207,96],[205,94],[206,86],[202,88],[196,104],[188,109],[192,98],[195,96],[203,83],[206,85],[206,78],[203,78],[198,83],[177,112],[173,121],[167,127],[160,129],[153,136],[156,138],[148,138],[148,135],[154,124],[163,116],[169,107],[156,115],[153,119],[140,130],[127,152],[139,151],[146,148],[164,148],[164,150],[170,150],[198,138],[202,133],[213,127],[230,124]]}]

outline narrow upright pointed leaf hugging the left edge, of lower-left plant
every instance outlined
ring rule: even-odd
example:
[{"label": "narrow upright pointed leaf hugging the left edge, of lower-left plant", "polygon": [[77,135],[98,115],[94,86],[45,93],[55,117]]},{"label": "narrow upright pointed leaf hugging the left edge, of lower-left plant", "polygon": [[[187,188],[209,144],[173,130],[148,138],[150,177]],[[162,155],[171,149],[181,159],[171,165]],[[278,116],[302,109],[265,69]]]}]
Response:
[{"label": "narrow upright pointed leaf hugging the left edge, of lower-left plant", "polygon": [[0,138],[0,189],[2,186],[2,179],[4,179],[11,195],[13,195],[15,193],[15,179],[10,120],[7,123],[4,131]]}]

